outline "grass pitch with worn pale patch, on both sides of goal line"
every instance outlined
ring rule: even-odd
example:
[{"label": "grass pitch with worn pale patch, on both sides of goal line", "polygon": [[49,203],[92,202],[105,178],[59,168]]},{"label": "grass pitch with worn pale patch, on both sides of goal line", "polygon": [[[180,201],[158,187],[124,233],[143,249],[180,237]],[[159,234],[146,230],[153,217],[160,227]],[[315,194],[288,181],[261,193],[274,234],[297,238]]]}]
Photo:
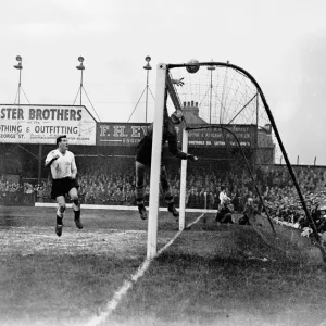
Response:
[{"label": "grass pitch with worn pale patch, on both sides of goal line", "polygon": [[[187,222],[198,214],[187,214]],[[158,249],[177,233],[159,217]],[[0,325],[86,325],[142,264],[147,222],[130,211],[0,208]],[[102,325],[321,325],[326,268],[289,260],[251,226],[208,215],[150,265]]]}]

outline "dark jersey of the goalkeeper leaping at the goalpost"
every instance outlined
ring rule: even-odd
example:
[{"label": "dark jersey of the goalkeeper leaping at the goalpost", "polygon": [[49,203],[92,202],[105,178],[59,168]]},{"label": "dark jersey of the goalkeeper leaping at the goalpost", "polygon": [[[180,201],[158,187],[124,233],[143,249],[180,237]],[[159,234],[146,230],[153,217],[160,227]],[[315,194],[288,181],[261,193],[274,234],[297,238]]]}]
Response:
[{"label": "dark jersey of the goalkeeper leaping at the goalpost", "polygon": [[[152,140],[153,124],[149,126],[147,135],[141,139],[141,141],[137,146],[136,161],[145,165],[151,164]],[[162,146],[164,146],[166,141],[168,142],[168,150],[174,156],[180,160],[187,159],[187,154],[178,149],[177,133],[174,123],[168,116],[164,117]]]}]

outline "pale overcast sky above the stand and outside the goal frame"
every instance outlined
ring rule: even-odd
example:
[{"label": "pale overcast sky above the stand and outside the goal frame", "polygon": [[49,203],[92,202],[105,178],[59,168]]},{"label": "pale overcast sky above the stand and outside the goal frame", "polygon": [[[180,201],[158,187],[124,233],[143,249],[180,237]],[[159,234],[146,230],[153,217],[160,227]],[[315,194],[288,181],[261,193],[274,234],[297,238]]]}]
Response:
[{"label": "pale overcast sky above the stand and outside the goal frame", "polygon": [[145,122],[146,55],[153,95],[161,62],[229,60],[260,84],[291,163],[326,165],[325,13],[322,0],[2,1],[0,103],[14,103],[21,55],[32,104],[73,104],[83,55],[83,104],[102,122]]}]

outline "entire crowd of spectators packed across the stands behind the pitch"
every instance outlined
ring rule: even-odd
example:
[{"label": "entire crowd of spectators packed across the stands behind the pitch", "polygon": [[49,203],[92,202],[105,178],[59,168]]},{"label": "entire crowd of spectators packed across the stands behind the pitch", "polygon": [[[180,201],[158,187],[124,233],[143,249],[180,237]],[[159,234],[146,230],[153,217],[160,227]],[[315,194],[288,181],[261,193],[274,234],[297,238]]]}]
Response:
[{"label": "entire crowd of spectators packed across the stands behind the pitch", "polygon": [[[135,172],[133,160],[116,160],[114,164],[80,165],[78,183],[82,203],[135,205]],[[298,184],[305,203],[312,212],[318,231],[326,231],[326,216],[321,206],[326,203],[326,167],[294,166]],[[179,202],[179,170],[167,168],[168,179],[176,204]],[[261,166],[254,173],[255,185],[264,199],[262,205],[254,191],[254,184],[248,174],[214,171],[212,166],[192,165],[187,175],[187,208],[217,210],[218,193],[226,188],[235,211],[242,212],[248,198],[252,198],[260,211],[267,211],[271,217],[294,227],[309,227],[299,196],[286,166]],[[149,174],[146,177],[146,202],[149,202]],[[28,204],[36,201],[49,202],[51,180],[41,185],[12,183],[0,177],[0,204]],[[163,200],[162,200],[163,203]],[[321,213],[322,212],[322,213]]]}]

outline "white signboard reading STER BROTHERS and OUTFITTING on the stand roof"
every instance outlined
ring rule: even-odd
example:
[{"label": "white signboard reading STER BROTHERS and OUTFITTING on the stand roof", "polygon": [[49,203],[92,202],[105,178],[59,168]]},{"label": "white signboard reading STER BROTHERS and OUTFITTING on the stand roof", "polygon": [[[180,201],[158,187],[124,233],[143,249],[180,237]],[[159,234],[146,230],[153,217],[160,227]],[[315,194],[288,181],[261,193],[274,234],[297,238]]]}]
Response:
[{"label": "white signboard reading STER BROTHERS and OUTFITTING on the stand roof", "polygon": [[0,142],[96,145],[96,125],[85,106],[0,104]]}]

